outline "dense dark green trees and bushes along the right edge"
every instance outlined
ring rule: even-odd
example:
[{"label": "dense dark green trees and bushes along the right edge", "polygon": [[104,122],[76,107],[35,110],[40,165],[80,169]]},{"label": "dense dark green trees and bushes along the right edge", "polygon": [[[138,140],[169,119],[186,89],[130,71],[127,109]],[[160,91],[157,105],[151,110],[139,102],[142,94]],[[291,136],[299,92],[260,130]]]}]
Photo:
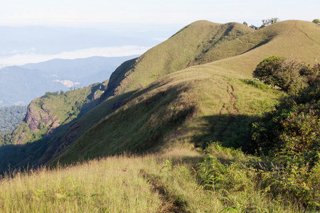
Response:
[{"label": "dense dark green trees and bushes along the right edge", "polygon": [[254,75],[288,93],[248,126],[250,139],[242,148],[268,159],[259,166],[260,187],[319,209],[320,64],[273,56],[260,62]]}]

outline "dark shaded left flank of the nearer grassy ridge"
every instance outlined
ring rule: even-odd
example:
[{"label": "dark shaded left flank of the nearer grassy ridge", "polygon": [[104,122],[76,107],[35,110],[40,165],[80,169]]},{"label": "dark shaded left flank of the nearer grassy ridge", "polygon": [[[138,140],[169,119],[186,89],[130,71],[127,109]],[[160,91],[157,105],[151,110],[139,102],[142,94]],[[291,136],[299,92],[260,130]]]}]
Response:
[{"label": "dark shaded left flank of the nearer grassy ridge", "polygon": [[[148,89],[133,94],[126,100],[129,103],[124,108],[117,109],[82,135],[72,148],[60,155],[59,162],[65,164],[124,152],[143,154],[159,151],[166,134],[181,126],[193,114],[195,107],[178,102],[178,96],[183,92],[180,87],[151,94],[146,92]],[[89,145],[87,141],[90,141]]]}]

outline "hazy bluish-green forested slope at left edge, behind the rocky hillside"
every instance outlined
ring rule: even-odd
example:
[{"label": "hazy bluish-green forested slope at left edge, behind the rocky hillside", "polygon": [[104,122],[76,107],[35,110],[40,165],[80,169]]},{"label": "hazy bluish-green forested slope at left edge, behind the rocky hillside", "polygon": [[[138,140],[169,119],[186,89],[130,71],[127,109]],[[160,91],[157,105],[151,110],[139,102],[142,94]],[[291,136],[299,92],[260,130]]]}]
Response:
[{"label": "hazy bluish-green forested slope at left edge, behind the rocky hillside", "polygon": [[12,106],[0,108],[0,135],[12,131],[26,116],[25,106]]}]

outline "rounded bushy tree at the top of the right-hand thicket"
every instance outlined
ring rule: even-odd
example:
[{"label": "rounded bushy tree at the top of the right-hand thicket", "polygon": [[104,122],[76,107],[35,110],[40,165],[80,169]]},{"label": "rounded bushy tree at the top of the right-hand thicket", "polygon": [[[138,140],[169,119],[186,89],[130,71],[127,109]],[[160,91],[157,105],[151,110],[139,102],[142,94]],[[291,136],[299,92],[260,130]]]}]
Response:
[{"label": "rounded bushy tree at the top of the right-hand thicket", "polygon": [[307,86],[307,78],[301,75],[306,65],[294,58],[272,56],[257,65],[253,77],[257,77],[265,84],[278,86],[285,92],[294,94]]}]

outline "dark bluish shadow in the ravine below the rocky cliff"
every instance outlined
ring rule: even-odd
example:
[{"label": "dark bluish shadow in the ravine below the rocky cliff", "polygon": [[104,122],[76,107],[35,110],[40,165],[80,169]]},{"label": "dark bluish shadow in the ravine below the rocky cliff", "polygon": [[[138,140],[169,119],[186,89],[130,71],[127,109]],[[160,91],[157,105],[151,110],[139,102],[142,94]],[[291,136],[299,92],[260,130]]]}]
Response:
[{"label": "dark bluish shadow in the ravine below the rocky cliff", "polygon": [[[87,99],[92,99],[100,87],[98,84],[92,87],[91,93],[87,95]],[[119,95],[111,99],[105,100],[110,105],[110,110],[105,111],[105,116],[112,113],[124,104],[124,99],[131,96],[134,92]],[[63,95],[63,94],[62,94]],[[61,124],[50,133],[43,134],[42,138],[25,144],[7,143],[0,146],[0,174],[11,173],[13,170],[28,170],[36,169],[44,165],[47,160],[53,157],[58,151],[70,146],[76,138],[78,138],[77,129],[79,121],[88,111],[93,109],[99,99],[92,102],[81,104],[78,106],[78,114],[70,114],[68,123]],[[77,107],[77,106],[75,106]],[[67,121],[68,119],[66,119]],[[95,122],[92,122],[94,124]],[[92,124],[87,123],[86,129],[89,129]],[[70,133],[71,132],[71,133]],[[59,150],[60,149],[60,150]]]}]

